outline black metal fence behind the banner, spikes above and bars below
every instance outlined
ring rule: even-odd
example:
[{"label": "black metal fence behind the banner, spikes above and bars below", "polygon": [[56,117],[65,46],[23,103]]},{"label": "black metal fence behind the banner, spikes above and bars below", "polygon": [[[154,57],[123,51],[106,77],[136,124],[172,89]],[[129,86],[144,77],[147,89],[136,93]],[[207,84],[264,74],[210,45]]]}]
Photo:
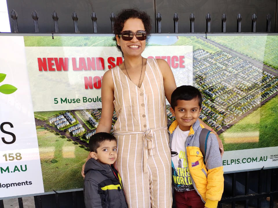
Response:
[{"label": "black metal fence behind the banner, spikes above and bars below", "polygon": [[[17,23],[17,12],[15,10],[11,11],[12,18],[12,29],[13,32],[17,33],[18,31],[18,23]],[[31,14],[31,17],[34,20],[34,28],[35,32],[39,32],[39,14],[34,10]],[[59,33],[58,29],[58,14],[54,11],[52,13],[52,18],[54,21],[55,31],[53,32]],[[97,33],[97,15],[95,12],[91,14],[94,33]],[[111,20],[111,32],[113,33],[113,25],[115,22],[115,14],[112,12],[110,14]],[[174,21],[174,33],[178,33],[178,19],[179,16],[177,13],[173,15]],[[237,15],[237,32],[241,32],[241,14]],[[74,23],[74,31],[75,33],[81,33],[78,30],[78,14],[76,12],[72,13],[72,20]],[[194,14],[190,14],[190,32],[194,33]],[[211,31],[211,15],[208,13],[206,15],[206,32]],[[256,32],[256,20],[257,15],[253,14],[250,17],[250,25],[251,32]],[[222,14],[222,29],[221,32],[226,32],[226,14]],[[161,33],[161,23],[162,23],[162,15],[158,12],[156,14],[156,32]],[[271,25],[271,15],[268,14],[266,16],[266,32],[270,32]],[[219,208],[222,208],[222,205],[231,204],[232,208],[235,208],[236,203],[242,204],[245,208],[248,208],[249,205],[252,207],[274,207],[274,199],[278,198],[278,168],[267,169],[256,171],[247,171],[247,172],[238,172],[238,173],[230,173],[224,174],[225,182],[224,182],[224,194],[222,196],[221,201],[218,204]],[[255,183],[256,182],[256,183]],[[53,190],[54,191],[54,190]],[[59,192],[54,191],[53,194],[47,195],[37,195],[34,196],[34,202],[36,208],[44,208],[44,207],[73,207],[79,208],[84,207],[83,201],[83,191],[73,191],[73,192]],[[19,208],[23,208],[22,198],[18,198]],[[175,203],[173,204],[175,207]],[[277,204],[278,207],[278,204]],[[0,208],[4,208],[3,200],[0,200]]]}]

